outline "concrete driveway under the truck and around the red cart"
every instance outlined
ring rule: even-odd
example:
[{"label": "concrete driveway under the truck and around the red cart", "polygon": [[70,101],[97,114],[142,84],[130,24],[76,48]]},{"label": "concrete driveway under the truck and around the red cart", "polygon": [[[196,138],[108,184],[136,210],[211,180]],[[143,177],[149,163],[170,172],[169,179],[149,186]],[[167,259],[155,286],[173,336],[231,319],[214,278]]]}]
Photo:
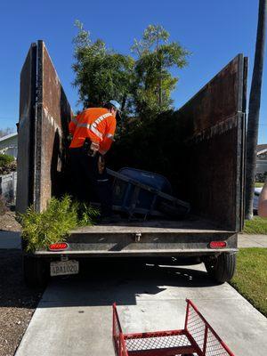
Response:
[{"label": "concrete driveway under the truck and around the red cart", "polygon": [[265,356],[266,318],[228,284],[216,286],[203,265],[93,264],[78,278],[54,279],[16,356],[114,356],[111,304],[125,332],[183,328],[190,298],[236,355]]}]

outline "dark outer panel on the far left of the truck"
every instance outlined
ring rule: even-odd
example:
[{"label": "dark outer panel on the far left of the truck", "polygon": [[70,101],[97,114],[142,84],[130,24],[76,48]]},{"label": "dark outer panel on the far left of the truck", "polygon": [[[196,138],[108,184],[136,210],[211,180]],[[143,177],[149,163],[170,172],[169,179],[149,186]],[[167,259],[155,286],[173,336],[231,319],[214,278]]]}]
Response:
[{"label": "dark outer panel on the far left of the truck", "polygon": [[31,44],[20,72],[18,184],[16,211],[33,203],[34,121],[36,104],[36,44]]}]

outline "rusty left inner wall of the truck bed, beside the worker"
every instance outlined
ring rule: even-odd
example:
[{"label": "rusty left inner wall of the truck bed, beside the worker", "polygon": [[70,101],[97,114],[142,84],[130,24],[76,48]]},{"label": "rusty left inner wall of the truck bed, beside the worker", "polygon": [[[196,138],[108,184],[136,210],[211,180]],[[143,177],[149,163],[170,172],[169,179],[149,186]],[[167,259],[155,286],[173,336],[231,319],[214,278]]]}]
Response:
[{"label": "rusty left inner wall of the truck bed, beside the worker", "polygon": [[66,182],[69,101],[43,41],[37,44],[35,208],[42,211]]}]

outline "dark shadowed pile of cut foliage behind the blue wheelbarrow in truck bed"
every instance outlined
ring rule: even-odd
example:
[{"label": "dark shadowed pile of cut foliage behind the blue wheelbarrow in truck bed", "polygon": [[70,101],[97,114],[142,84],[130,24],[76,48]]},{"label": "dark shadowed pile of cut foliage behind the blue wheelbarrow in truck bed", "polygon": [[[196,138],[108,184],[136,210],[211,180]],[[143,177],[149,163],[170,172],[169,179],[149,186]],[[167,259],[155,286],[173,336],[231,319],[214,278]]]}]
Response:
[{"label": "dark shadowed pile of cut foliage behind the blue wheelbarrow in truck bed", "polygon": [[184,165],[185,159],[182,142],[179,114],[173,110],[137,120],[125,125],[120,140],[114,142],[109,166],[114,170],[131,166],[163,174],[175,188],[181,180],[179,166]]}]

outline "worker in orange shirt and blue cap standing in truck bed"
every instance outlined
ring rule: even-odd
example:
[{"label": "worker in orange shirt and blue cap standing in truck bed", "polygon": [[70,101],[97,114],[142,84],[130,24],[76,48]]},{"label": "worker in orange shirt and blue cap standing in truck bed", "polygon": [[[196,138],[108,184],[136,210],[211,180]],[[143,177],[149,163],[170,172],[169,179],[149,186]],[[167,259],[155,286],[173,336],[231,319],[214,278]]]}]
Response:
[{"label": "worker in orange shirt and blue cap standing in truck bed", "polygon": [[101,217],[112,216],[112,195],[104,155],[114,141],[120,104],[109,101],[104,108],[85,109],[69,123],[69,146],[73,193],[79,201],[89,201],[88,185],[101,202]]}]

